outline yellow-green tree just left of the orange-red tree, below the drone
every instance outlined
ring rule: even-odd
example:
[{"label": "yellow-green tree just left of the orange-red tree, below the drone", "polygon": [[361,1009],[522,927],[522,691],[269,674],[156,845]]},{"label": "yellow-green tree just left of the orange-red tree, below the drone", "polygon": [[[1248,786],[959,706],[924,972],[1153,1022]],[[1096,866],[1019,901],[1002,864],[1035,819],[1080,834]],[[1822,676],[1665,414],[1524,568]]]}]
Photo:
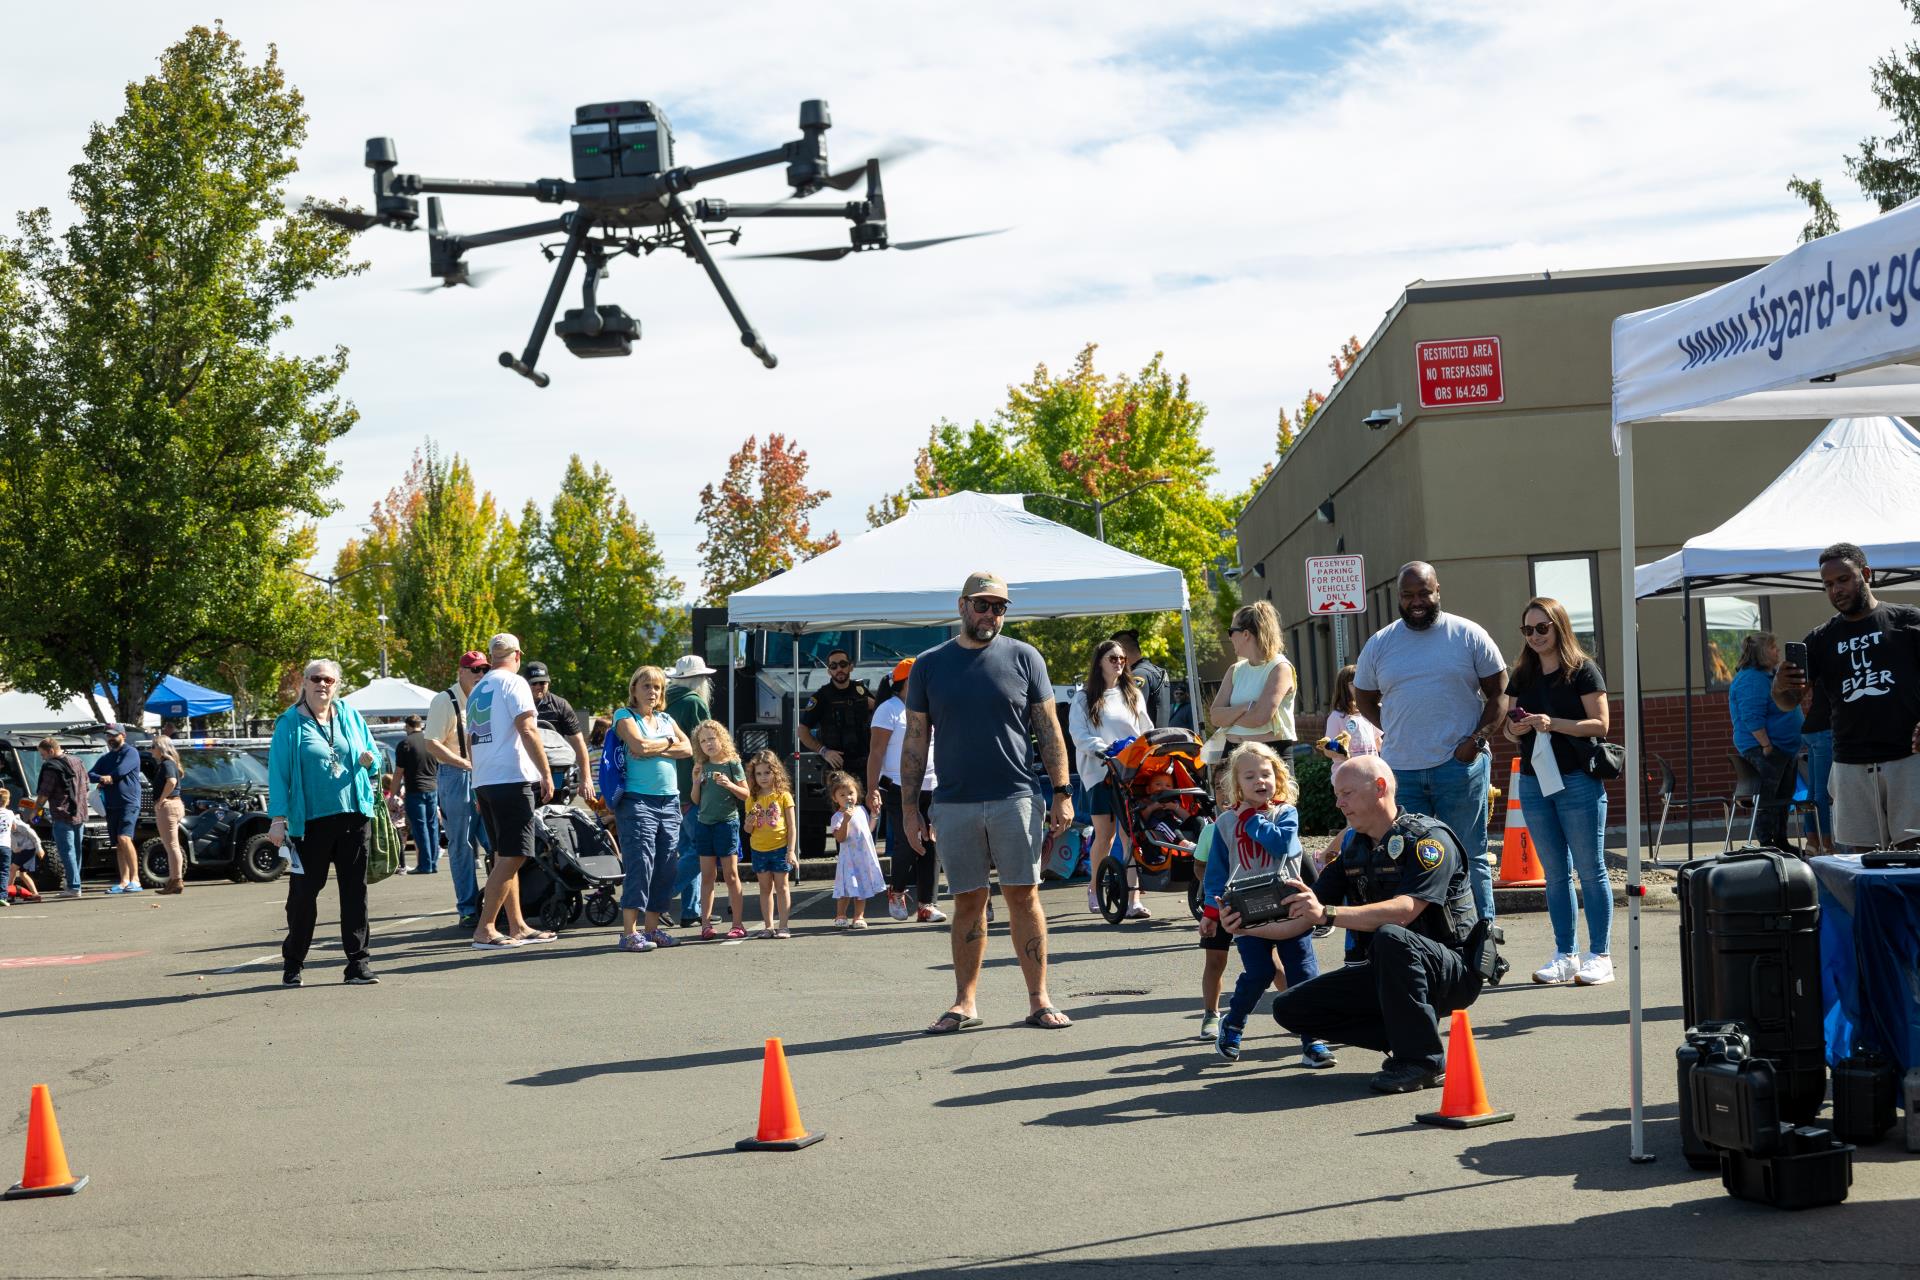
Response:
[{"label": "yellow-green tree just left of the orange-red tree, below the drone", "polygon": [[520,537],[532,585],[522,641],[576,706],[614,706],[636,666],[682,652],[684,587],[603,466],[568,459],[547,512],[526,505]]}]

